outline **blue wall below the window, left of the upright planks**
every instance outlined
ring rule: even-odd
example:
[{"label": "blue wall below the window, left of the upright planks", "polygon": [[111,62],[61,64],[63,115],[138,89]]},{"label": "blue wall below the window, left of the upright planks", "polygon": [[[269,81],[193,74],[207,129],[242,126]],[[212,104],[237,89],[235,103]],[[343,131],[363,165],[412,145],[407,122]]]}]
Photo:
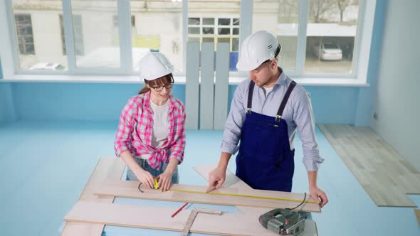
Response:
[{"label": "blue wall below the window, left of the upright planks", "polygon": [[[117,120],[140,84],[14,83],[16,116],[24,120]],[[184,102],[184,86],[172,92]]]}]

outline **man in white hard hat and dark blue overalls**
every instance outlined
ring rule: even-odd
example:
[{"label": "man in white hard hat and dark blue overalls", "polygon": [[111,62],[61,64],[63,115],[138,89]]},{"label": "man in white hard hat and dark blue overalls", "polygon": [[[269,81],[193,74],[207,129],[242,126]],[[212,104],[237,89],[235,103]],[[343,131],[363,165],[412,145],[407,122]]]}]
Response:
[{"label": "man in white hard hat and dark blue overalls", "polygon": [[236,88],[221,158],[209,173],[207,191],[223,185],[229,159],[238,151],[236,176],[242,181],[256,189],[290,192],[295,169],[293,142],[298,129],[310,195],[323,207],[328,198],[317,187],[317,170],[324,160],[315,137],[310,95],[278,67],[280,49],[277,39],[267,31],[253,33],[243,41],[236,68],[249,71],[250,80]]}]

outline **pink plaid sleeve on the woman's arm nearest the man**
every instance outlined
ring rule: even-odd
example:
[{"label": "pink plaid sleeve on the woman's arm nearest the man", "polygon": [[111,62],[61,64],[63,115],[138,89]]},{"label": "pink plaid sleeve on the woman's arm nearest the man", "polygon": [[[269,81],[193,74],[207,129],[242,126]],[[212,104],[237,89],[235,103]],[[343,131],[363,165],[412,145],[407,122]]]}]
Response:
[{"label": "pink plaid sleeve on the woman's arm nearest the man", "polygon": [[185,108],[181,104],[181,109],[179,113],[174,117],[175,127],[177,128],[177,139],[174,145],[171,147],[171,155],[169,159],[177,159],[179,163],[182,163],[184,160],[184,149],[185,149]]}]

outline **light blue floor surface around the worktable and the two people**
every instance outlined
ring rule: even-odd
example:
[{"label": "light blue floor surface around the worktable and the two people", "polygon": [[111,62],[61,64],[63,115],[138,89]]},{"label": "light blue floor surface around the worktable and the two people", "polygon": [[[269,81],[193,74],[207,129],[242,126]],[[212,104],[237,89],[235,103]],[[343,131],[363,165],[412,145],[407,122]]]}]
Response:
[{"label": "light blue floor surface around the worktable and the two people", "polygon": [[[17,122],[0,126],[0,235],[58,235],[101,156],[113,156],[116,122]],[[205,185],[191,168],[219,160],[222,132],[188,131],[180,183]],[[377,207],[317,130],[330,203],[313,213],[319,235],[420,235],[413,208]],[[293,191],[308,188],[295,142]],[[234,172],[233,159],[229,169]],[[420,205],[420,195],[410,195]],[[135,229],[136,230],[136,229]],[[135,232],[133,232],[135,233]],[[147,234],[149,235],[149,233]]]}]

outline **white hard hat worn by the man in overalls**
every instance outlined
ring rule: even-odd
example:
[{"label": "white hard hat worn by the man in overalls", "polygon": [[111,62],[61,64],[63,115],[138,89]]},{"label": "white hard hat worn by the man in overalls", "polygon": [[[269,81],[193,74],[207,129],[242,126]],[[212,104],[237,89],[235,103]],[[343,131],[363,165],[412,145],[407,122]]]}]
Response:
[{"label": "white hard hat worn by the man in overalls", "polygon": [[273,60],[280,50],[280,43],[271,33],[257,31],[243,41],[236,68],[244,71],[254,70],[266,60]]}]

